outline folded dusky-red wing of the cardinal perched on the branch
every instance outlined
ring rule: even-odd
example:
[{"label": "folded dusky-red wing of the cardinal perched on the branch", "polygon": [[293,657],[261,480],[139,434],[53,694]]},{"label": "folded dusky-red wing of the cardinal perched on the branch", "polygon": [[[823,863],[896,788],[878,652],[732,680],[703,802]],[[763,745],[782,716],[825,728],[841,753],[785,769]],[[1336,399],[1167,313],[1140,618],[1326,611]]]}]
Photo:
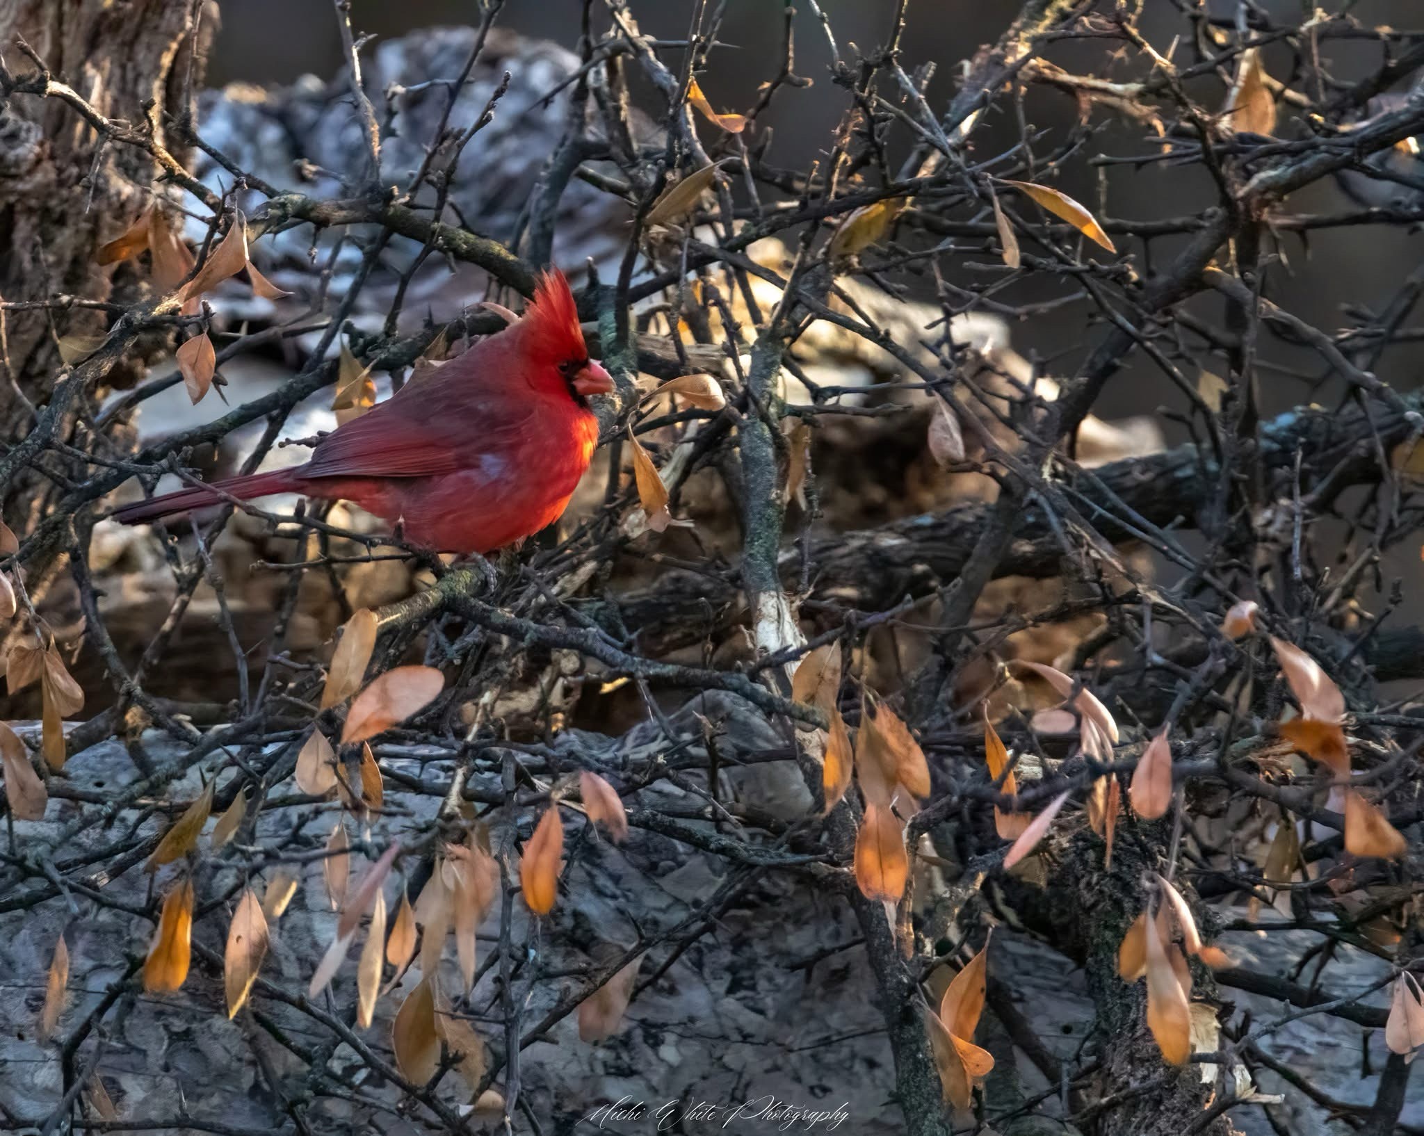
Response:
[{"label": "folded dusky-red wing of the cardinal perched on the branch", "polygon": [[[533,400],[459,372],[407,383],[320,441],[303,477],[430,477],[474,466],[535,428]],[[463,369],[461,369],[463,370]]]}]

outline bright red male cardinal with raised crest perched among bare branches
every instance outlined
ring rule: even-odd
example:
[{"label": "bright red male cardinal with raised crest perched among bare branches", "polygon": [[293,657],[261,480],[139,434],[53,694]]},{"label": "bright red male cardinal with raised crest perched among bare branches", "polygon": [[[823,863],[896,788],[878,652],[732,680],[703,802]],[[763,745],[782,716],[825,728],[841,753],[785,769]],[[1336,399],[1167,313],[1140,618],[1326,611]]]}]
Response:
[{"label": "bright red male cardinal with raised crest perched among bare branches", "polygon": [[590,394],[612,379],[588,357],[568,280],[545,273],[524,317],[318,443],[289,470],[231,477],[124,505],[140,524],[300,493],[353,501],[437,552],[488,552],[553,524],[598,444]]}]

